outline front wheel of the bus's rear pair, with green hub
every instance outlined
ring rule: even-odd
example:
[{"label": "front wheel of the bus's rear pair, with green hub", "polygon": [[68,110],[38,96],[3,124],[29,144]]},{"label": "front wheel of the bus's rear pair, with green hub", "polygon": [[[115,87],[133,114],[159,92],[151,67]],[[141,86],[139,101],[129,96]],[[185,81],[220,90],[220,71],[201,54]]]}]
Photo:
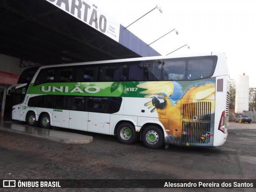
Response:
[{"label": "front wheel of the bus's rear pair, with green hub", "polygon": [[120,143],[130,145],[139,140],[139,133],[134,125],[124,122],[117,127],[116,137]]}]

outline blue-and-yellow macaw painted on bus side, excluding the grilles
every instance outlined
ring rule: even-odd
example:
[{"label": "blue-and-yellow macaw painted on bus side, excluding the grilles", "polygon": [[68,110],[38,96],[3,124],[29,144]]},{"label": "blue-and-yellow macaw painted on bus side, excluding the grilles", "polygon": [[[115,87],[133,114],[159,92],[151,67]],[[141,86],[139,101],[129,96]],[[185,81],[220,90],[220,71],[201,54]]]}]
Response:
[{"label": "blue-and-yellow macaw painted on bus side, excluding the grilles", "polygon": [[[185,90],[178,82],[144,82],[138,87],[147,89],[140,93],[146,94],[145,97],[152,98],[152,101],[145,103],[144,106],[153,108],[151,112],[158,113],[158,119],[169,135],[167,139],[177,144],[181,136],[182,104],[194,103],[198,100],[214,102],[215,99],[215,82],[212,81],[192,84]],[[211,113],[213,112],[214,107]]]}]

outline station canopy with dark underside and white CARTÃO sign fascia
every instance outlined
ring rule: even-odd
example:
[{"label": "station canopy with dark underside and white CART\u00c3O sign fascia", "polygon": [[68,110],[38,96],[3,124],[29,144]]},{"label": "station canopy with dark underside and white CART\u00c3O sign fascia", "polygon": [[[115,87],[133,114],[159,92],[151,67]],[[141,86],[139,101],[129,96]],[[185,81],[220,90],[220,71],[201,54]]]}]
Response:
[{"label": "station canopy with dark underside and white CART\u00c3O sign fascia", "polygon": [[89,0],[0,0],[0,18],[20,67],[160,55]]}]

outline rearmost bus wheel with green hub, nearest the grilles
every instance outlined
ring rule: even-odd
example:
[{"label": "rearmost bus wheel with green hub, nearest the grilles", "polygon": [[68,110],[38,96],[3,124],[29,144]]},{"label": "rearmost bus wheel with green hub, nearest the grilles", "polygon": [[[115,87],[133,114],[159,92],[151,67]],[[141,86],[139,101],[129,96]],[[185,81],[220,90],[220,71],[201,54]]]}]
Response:
[{"label": "rearmost bus wheel with green hub, nearest the grilles", "polygon": [[157,126],[150,125],[142,130],[142,142],[144,146],[158,149],[164,144],[164,135]]}]

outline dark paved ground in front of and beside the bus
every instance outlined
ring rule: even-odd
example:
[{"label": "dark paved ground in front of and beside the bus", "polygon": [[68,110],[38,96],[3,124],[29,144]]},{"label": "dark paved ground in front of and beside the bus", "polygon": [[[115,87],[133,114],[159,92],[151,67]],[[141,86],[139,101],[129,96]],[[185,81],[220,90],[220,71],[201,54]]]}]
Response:
[{"label": "dark paved ground in front of and beside the bus", "polygon": [[[5,122],[18,124],[19,122]],[[20,123],[19,123],[20,124]],[[24,124],[24,126],[26,126]],[[67,130],[65,130],[67,131]],[[74,131],[76,132],[76,131]],[[65,144],[0,130],[3,179],[255,179],[256,124],[230,122],[228,140],[216,148],[171,146],[152,150],[141,142],[120,144],[113,136],[93,136],[89,144]],[[1,189],[24,191],[24,189]],[[91,188],[26,191],[153,192],[171,189]],[[254,189],[175,189],[174,191],[255,191]]]}]

